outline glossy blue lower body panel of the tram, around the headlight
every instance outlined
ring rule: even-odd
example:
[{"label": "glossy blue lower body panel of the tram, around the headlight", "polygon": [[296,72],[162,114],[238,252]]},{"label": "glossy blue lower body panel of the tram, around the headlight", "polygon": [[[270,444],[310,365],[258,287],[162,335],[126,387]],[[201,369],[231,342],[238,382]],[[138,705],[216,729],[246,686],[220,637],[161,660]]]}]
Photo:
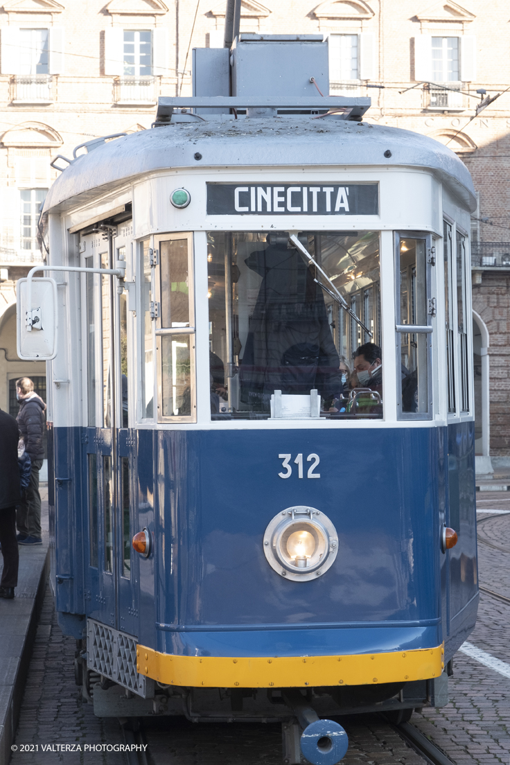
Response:
[{"label": "glossy blue lower body panel of the tram, around the headlight", "polygon": [[[56,568],[70,576],[56,584],[60,610],[182,656],[326,656],[445,641],[448,660],[473,629],[472,422],[119,431],[118,454],[109,431],[56,428],[54,442],[56,474],[72,478],[56,489]],[[282,478],[279,455],[286,454],[292,472]],[[313,455],[319,462],[308,477]],[[108,457],[119,485],[119,461],[128,460],[128,533],[147,526],[154,539],[149,558],[131,551],[126,564],[121,508],[114,509],[113,560],[106,555]],[[96,516],[91,464],[98,471]],[[297,505],[325,514],[338,535],[333,566],[313,581],[286,581],[264,555],[268,523]],[[444,522],[459,533],[446,554],[440,550]]]}]

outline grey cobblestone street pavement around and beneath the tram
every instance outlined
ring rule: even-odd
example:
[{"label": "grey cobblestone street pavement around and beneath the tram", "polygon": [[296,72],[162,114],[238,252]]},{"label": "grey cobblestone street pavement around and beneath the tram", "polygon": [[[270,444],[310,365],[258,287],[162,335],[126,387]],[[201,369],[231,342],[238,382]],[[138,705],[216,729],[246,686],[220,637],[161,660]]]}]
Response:
[{"label": "grey cobblestone street pavement around and beneath the tram", "polygon": [[[510,497],[501,492],[478,496],[479,509],[508,509]],[[510,597],[510,514],[479,514],[479,533],[496,550],[479,544],[480,584]],[[508,621],[510,605],[489,595],[480,599],[479,620],[469,641],[510,663]],[[81,701],[73,677],[74,640],[63,637],[49,591],[37,630],[34,655],[24,693],[16,744],[37,744],[37,752],[21,752],[11,765],[69,763],[126,765],[123,754],[42,752],[41,744],[121,744],[116,720],[100,720]],[[412,723],[437,744],[456,765],[508,763],[510,751],[510,679],[463,653],[454,659],[450,703],[442,709],[424,708]],[[398,734],[371,715],[344,718],[349,734],[345,765],[424,765]],[[191,724],[180,718],[145,722],[151,765],[281,765],[279,725]]]}]

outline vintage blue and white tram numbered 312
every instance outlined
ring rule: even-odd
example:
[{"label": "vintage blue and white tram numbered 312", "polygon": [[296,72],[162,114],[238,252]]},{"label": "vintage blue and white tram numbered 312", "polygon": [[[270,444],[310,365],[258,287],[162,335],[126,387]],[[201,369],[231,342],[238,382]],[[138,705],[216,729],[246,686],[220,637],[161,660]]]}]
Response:
[{"label": "vintage blue and white tram numbered 312", "polygon": [[193,67],[153,129],[75,152],[56,288],[20,288],[59,623],[96,715],[282,721],[286,762],[336,763],[324,718],[443,705],[476,621],[473,184],[319,96],[321,37]]}]

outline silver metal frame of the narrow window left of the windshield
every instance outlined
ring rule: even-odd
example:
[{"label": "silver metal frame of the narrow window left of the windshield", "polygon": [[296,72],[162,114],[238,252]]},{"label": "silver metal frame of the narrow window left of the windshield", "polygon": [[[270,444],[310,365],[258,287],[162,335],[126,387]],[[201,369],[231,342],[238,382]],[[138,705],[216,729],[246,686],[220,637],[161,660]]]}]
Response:
[{"label": "silver metal frame of the narrow window left of the windshield", "polygon": [[[190,307],[189,327],[163,327],[161,325],[161,242],[187,239],[188,262],[188,299]],[[195,423],[197,422],[197,319],[195,314],[195,278],[194,278],[194,245],[193,231],[172,231],[154,236],[154,302],[158,307],[158,316],[154,319],[154,334],[156,354],[154,376],[158,392],[157,416],[154,419],[161,423]],[[183,335],[190,337],[190,415],[163,415],[163,374],[162,374],[162,338],[168,335]]]}]

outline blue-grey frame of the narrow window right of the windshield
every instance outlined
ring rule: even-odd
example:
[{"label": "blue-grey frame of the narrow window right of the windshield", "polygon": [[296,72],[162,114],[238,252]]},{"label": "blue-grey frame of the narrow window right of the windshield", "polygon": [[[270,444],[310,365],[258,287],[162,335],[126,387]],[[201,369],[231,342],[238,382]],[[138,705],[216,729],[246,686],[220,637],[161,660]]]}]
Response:
[{"label": "blue-grey frame of the narrow window right of the windshield", "polygon": [[[425,263],[425,285],[427,295],[426,301],[433,300],[436,296],[434,294],[434,278],[432,269],[432,247],[434,247],[434,238],[430,232],[426,231],[394,231],[394,268],[395,268],[395,351],[396,351],[396,403],[397,403],[397,420],[413,421],[413,420],[433,420],[434,419],[434,385],[432,365],[434,362],[434,317],[430,314],[427,306],[427,327],[430,327],[430,331],[412,334],[426,334],[427,335],[427,395],[428,395],[428,409],[427,412],[402,412],[402,375],[401,375],[401,335],[408,334],[397,329],[397,327],[403,326],[401,323],[400,315],[400,243],[401,239],[422,239],[425,241],[426,263]],[[437,301],[436,301],[437,304]],[[425,326],[425,325],[424,325]],[[384,353],[384,347],[383,347]]]}]

